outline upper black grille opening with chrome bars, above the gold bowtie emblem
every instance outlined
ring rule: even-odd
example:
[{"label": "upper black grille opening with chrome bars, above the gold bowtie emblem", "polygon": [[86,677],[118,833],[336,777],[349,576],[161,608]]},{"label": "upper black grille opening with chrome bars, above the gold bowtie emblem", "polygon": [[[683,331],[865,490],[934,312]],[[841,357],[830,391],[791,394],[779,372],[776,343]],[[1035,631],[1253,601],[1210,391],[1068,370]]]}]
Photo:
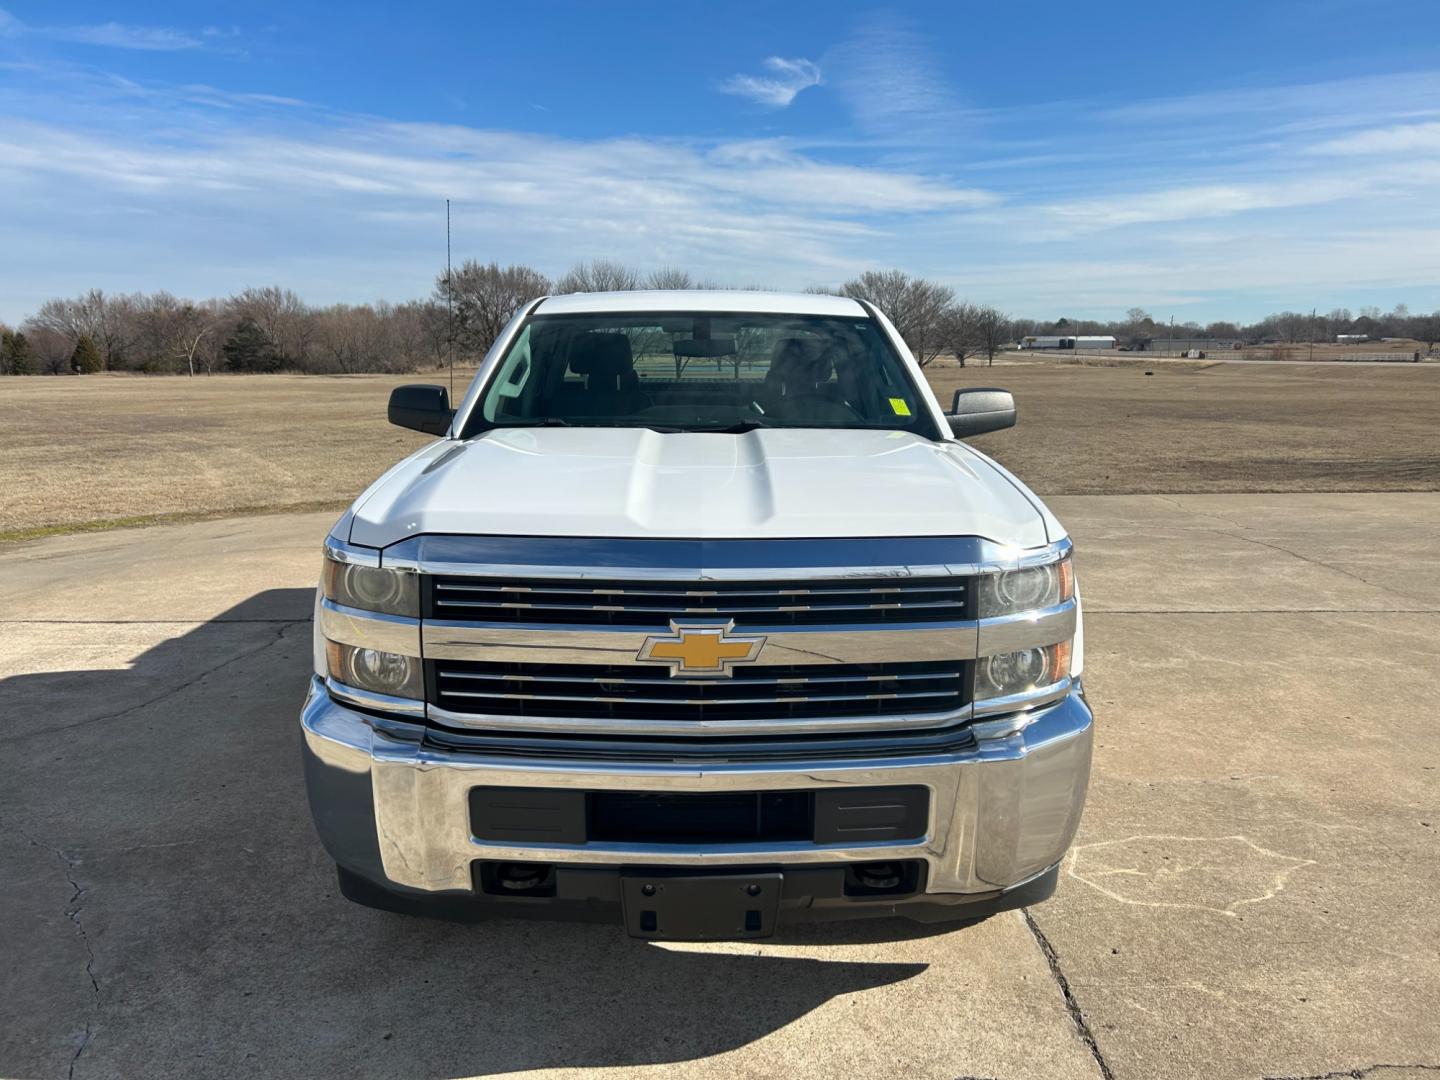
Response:
[{"label": "upper black grille opening with chrome bars, above the gold bowtie emblem", "polygon": [[965,577],[801,582],[625,582],[432,577],[433,619],[665,626],[670,619],[736,625],[860,626],[972,618]]}]

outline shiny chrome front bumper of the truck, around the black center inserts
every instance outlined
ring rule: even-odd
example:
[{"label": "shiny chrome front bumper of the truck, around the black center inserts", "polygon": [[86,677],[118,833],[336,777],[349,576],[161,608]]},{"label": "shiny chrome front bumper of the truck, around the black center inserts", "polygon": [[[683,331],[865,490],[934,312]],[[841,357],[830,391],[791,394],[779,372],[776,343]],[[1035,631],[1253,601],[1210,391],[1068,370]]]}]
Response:
[{"label": "shiny chrome front bumper of the truck, around the black center inserts", "polygon": [[[744,867],[923,860],[926,893],[989,893],[1022,884],[1064,855],[1090,778],[1093,721],[1079,691],[1022,721],[976,723],[965,752],[776,765],[556,762],[436,752],[422,729],[387,723],[334,701],[311,680],[301,717],[311,808],[341,867],[420,893],[472,890],[472,863]],[[904,844],[526,844],[475,840],[475,786],[586,791],[796,791],[828,785],[923,785],[926,835]]]}]

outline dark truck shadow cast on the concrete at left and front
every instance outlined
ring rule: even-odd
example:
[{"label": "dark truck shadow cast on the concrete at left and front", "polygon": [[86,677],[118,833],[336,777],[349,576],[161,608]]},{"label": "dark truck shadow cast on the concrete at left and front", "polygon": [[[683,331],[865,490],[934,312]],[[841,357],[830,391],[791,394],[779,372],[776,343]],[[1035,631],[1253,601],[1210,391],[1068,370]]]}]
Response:
[{"label": "dark truck shadow cast on the concrete at left and front", "polygon": [[[151,625],[128,668],[0,681],[0,1074],[678,1063],[926,969],[867,959],[940,932],[891,920],[776,939],[832,949],[814,959],[347,903],[300,766],[311,600],[262,592],[158,644]],[[82,662],[130,632],[88,626],[60,641]]]}]

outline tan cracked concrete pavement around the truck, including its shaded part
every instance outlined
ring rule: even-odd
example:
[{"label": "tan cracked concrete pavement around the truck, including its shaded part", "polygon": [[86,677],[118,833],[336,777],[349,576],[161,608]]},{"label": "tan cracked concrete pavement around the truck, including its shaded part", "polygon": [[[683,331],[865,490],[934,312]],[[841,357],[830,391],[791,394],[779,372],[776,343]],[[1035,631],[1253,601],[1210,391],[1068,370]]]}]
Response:
[{"label": "tan cracked concrete pavement around the truck, including its shaded part", "polygon": [[1433,1074],[1440,495],[1051,505],[1100,719],[1060,893],[759,945],[338,899],[330,516],[0,550],[0,1076]]}]

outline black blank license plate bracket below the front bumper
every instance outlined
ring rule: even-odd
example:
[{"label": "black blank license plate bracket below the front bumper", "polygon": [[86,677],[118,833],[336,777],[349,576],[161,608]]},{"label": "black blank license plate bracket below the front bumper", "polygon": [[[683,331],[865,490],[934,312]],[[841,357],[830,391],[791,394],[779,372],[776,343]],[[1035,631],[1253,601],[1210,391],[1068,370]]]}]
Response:
[{"label": "black blank license plate bracket below the front bumper", "polygon": [[780,910],[783,874],[621,876],[625,929],[631,937],[726,942],[769,937]]}]

